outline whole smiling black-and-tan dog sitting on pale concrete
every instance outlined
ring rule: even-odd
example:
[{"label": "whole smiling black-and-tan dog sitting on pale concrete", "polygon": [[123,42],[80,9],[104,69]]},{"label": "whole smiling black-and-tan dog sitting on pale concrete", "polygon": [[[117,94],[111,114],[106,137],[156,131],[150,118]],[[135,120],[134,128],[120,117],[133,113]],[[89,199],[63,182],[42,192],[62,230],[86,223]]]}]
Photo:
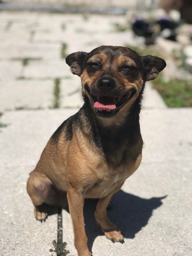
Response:
[{"label": "whole smiling black-and-tan dog sitting on pale concrete", "polygon": [[95,218],[105,236],[123,243],[123,235],[107,218],[106,207],[142,157],[139,113],[145,81],[155,79],[166,63],[117,46],[66,58],[81,77],[83,107],[52,135],[27,182],[35,217],[47,217],[44,203],[67,200],[78,256],[90,256],[84,228],[84,198],[100,198]]}]

